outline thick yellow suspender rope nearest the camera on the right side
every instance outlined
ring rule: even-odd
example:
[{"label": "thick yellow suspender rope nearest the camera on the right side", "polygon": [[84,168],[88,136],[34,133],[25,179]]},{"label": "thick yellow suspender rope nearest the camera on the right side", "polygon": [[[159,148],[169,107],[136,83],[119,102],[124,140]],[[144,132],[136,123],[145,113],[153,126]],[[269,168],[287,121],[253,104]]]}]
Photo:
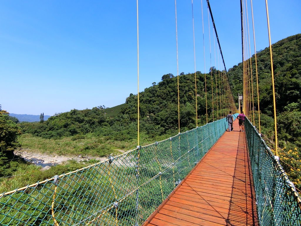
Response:
[{"label": "thick yellow suspender rope nearest the camera on the right side", "polygon": [[273,87],[273,104],[274,104],[274,124],[275,124],[275,151],[278,156],[278,140],[277,140],[277,118],[276,118],[276,100],[275,100],[275,84],[274,84],[274,70],[273,70],[273,57],[272,57],[272,43],[270,33],[270,21],[268,17],[268,0],[265,0],[266,17],[268,20],[268,41],[270,43],[270,57],[271,57],[271,72],[272,72],[272,87]]}]

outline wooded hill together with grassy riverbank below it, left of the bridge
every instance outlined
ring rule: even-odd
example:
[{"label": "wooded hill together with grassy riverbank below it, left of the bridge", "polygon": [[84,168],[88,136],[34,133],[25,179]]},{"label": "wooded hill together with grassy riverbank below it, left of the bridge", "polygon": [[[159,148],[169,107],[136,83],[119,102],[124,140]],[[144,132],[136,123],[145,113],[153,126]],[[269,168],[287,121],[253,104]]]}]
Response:
[{"label": "wooded hill together with grassy riverbank below it, left of the bridge", "polygon": [[[216,82],[222,83],[221,72],[211,68]],[[198,125],[206,124],[206,99],[204,79],[201,72],[197,77],[197,113]],[[180,91],[180,127],[185,131],[196,126],[195,118],[195,90],[194,74],[181,73],[179,76]],[[207,76],[207,90],[211,90],[211,77]],[[215,85],[214,94],[216,94]],[[221,95],[223,98],[223,91]],[[219,95],[219,89],[218,89]],[[158,84],[153,83],[140,93],[140,144],[145,145],[156,140],[163,140],[178,133],[178,97],[177,78],[172,74],[165,74]],[[208,108],[212,108],[211,95],[207,95]],[[213,99],[215,120],[225,114],[225,109],[220,109]],[[219,102],[218,102],[219,104]],[[223,105],[223,104],[222,104]],[[219,111],[217,108],[219,107]],[[224,106],[225,107],[225,106]],[[113,108],[98,106],[92,109],[76,110],[56,114],[47,121],[21,122],[23,134],[19,137],[22,148],[33,152],[55,155],[83,155],[83,156],[107,156],[117,154],[119,150],[128,150],[137,146],[137,95],[130,94],[126,103]],[[212,111],[208,111],[209,122],[212,121]],[[17,121],[16,121],[17,122]],[[14,161],[10,161],[14,163]],[[21,163],[19,163],[21,164]],[[73,169],[79,164],[69,162],[65,168]],[[61,173],[63,166],[55,166],[50,172],[43,173],[40,180],[46,176],[53,176],[58,170]],[[14,175],[36,175],[39,169],[34,166],[22,165],[13,170]],[[56,173],[56,174],[58,174]],[[35,176],[27,178],[28,183],[35,182]],[[0,190],[9,190],[12,184],[22,183],[22,179],[15,177],[13,180],[5,180],[0,185]]]}]

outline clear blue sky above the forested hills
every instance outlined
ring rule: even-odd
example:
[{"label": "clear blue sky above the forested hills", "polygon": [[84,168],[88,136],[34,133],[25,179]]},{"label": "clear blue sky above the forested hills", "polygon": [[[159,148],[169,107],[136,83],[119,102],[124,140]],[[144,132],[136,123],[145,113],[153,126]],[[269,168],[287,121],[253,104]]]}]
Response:
[{"label": "clear blue sky above the forested hills", "polygon": [[[204,72],[200,2],[194,1],[196,70]],[[211,0],[210,5],[228,70],[241,62],[240,1]],[[272,43],[301,33],[299,0],[269,0],[268,6]],[[265,1],[253,0],[253,8],[256,49],[260,50],[268,46]],[[191,1],[177,1],[179,73],[194,72],[191,12]],[[2,109],[54,115],[124,103],[130,93],[137,93],[136,26],[135,0],[0,1]],[[212,29],[211,39],[215,66]],[[174,1],[140,0],[140,91],[159,82],[163,74],[177,74],[175,40]],[[253,54],[253,43],[251,50]]]}]

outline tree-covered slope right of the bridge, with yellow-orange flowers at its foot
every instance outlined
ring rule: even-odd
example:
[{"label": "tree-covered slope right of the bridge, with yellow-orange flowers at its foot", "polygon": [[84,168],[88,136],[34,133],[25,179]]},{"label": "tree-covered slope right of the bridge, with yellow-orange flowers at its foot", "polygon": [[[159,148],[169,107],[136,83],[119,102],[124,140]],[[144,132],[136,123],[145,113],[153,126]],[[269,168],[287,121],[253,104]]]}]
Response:
[{"label": "tree-covered slope right of the bridge, with yellow-orange flowers at its foot", "polygon": [[[275,97],[279,155],[290,178],[301,189],[301,34],[287,37],[272,45],[273,68],[275,77]],[[258,52],[258,87],[260,105],[260,124],[262,134],[274,141],[274,116],[272,99],[272,79],[269,48]],[[249,60],[250,61],[250,60]],[[251,58],[252,75],[256,87],[255,55]],[[234,96],[243,93],[242,63],[229,69],[228,76]],[[252,103],[251,103],[252,104]],[[257,108],[257,94],[254,93],[254,105]],[[258,127],[258,115],[255,114]],[[293,159],[291,158],[293,157]],[[291,168],[292,166],[293,168]]]}]

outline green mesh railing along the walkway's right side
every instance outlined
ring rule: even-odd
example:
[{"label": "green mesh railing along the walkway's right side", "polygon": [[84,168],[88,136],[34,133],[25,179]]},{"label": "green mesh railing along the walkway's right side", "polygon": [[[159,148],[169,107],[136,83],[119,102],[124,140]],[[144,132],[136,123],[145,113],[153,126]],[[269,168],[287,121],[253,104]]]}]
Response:
[{"label": "green mesh railing along the walkway's right side", "polygon": [[293,183],[248,119],[245,127],[259,225],[301,225],[301,199]]}]

